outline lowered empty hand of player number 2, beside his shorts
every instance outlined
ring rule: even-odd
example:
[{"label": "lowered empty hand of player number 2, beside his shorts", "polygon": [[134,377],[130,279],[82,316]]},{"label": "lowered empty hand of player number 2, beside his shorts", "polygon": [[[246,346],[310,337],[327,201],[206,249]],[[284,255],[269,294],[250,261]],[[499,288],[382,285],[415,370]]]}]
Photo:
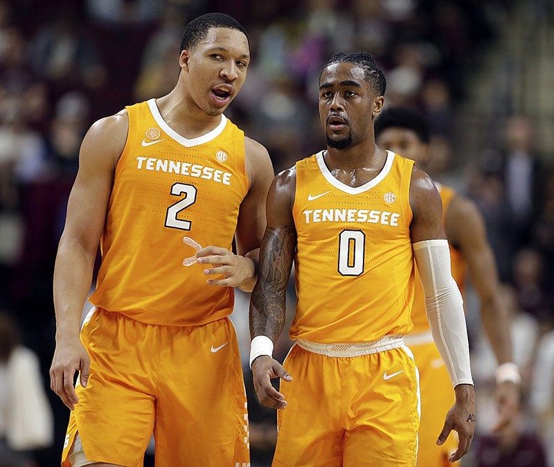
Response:
[{"label": "lowered empty hand of player number 2, beside his shorts", "polygon": [[80,371],[81,386],[87,387],[89,366],[89,355],[79,338],[73,342],[57,344],[50,367],[50,388],[70,410],[79,402],[73,385],[75,371]]}]

